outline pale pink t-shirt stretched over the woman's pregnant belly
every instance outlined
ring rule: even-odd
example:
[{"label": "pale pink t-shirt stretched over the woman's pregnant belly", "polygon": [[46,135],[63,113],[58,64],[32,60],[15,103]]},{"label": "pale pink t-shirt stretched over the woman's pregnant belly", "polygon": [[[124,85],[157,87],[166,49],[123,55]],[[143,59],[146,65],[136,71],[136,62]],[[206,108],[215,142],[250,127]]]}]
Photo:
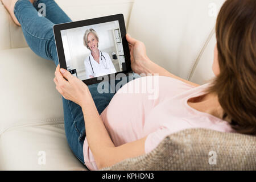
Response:
[{"label": "pale pink t-shirt stretched over the woman's pregnant belly", "polygon": [[[118,90],[101,113],[101,118],[115,146],[147,136],[146,153],[158,146],[167,135],[184,129],[200,127],[233,132],[228,122],[187,104],[189,98],[203,95],[208,86],[193,87],[164,76],[140,77]],[[147,88],[146,91],[144,88]],[[134,92],[131,93],[131,90]],[[90,170],[98,169],[86,138],[84,161]]]}]

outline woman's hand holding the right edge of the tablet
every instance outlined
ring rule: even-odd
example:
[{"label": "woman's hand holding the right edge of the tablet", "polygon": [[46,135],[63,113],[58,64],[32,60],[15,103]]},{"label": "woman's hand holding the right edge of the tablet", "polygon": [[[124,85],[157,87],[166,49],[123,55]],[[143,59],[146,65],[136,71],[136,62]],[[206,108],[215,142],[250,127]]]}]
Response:
[{"label": "woman's hand holding the right edge of the tablet", "polygon": [[143,42],[131,38],[129,34],[126,34],[127,42],[129,43],[130,55],[131,55],[131,69],[135,73],[148,73],[147,67],[150,63],[146,54],[146,47]]}]

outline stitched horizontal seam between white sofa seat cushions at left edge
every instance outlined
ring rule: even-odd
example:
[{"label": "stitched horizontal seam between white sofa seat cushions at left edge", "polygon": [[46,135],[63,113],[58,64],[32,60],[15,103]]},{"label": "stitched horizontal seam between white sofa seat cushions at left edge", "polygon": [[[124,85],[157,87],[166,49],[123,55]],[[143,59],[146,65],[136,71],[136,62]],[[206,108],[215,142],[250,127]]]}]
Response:
[{"label": "stitched horizontal seam between white sofa seat cushions at left edge", "polygon": [[[2,131],[0,131],[0,136],[4,133],[6,133],[7,131],[13,130],[13,129],[18,129],[18,128],[22,128],[22,127],[28,127],[28,126],[46,126],[46,125],[60,125],[64,123],[62,122],[64,121],[64,118],[59,118],[59,119],[49,119],[48,121],[43,121],[42,122],[38,122],[38,123],[27,123],[24,125],[16,125],[16,126],[11,126],[8,127],[7,129],[3,129]],[[54,122],[54,123],[53,123]]]}]

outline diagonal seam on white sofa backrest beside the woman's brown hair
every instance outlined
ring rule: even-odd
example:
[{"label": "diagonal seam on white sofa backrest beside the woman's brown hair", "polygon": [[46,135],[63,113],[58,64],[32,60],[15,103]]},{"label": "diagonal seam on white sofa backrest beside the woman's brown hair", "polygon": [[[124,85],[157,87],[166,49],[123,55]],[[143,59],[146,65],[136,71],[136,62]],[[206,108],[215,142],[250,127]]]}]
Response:
[{"label": "diagonal seam on white sofa backrest beside the woman's brown hair", "polygon": [[210,39],[212,39],[212,36],[214,34],[214,30],[215,30],[215,26],[212,28],[212,30],[210,31],[210,34],[209,36],[207,37],[207,39],[205,40],[204,44],[203,44],[203,47],[200,49],[199,51],[199,54],[198,56],[196,57],[196,60],[193,61],[193,64],[191,66],[191,68],[189,69],[189,72],[188,72],[188,77],[187,77],[187,80],[190,81],[192,76],[193,76],[193,73],[195,72],[195,69],[199,63],[199,60],[201,59],[201,56],[203,55],[204,51],[205,51],[205,48],[207,47],[208,43],[210,42]]}]

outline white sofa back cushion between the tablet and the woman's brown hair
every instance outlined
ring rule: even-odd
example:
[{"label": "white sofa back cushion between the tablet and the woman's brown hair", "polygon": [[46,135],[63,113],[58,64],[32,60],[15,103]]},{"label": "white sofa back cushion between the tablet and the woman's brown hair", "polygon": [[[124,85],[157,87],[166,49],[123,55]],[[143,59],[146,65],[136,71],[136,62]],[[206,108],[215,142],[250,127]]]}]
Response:
[{"label": "white sofa back cushion between the tablet and the woman's brown hair", "polygon": [[[223,2],[135,1],[128,32],[144,42],[152,61],[177,76],[191,80],[193,73],[201,74],[195,69],[202,66],[203,77],[194,76],[193,81],[204,84],[213,77],[213,72],[211,67],[204,67],[206,64],[197,63],[207,61],[207,65],[212,64],[216,43],[214,26]],[[210,53],[204,54],[205,49],[209,49]]]}]

